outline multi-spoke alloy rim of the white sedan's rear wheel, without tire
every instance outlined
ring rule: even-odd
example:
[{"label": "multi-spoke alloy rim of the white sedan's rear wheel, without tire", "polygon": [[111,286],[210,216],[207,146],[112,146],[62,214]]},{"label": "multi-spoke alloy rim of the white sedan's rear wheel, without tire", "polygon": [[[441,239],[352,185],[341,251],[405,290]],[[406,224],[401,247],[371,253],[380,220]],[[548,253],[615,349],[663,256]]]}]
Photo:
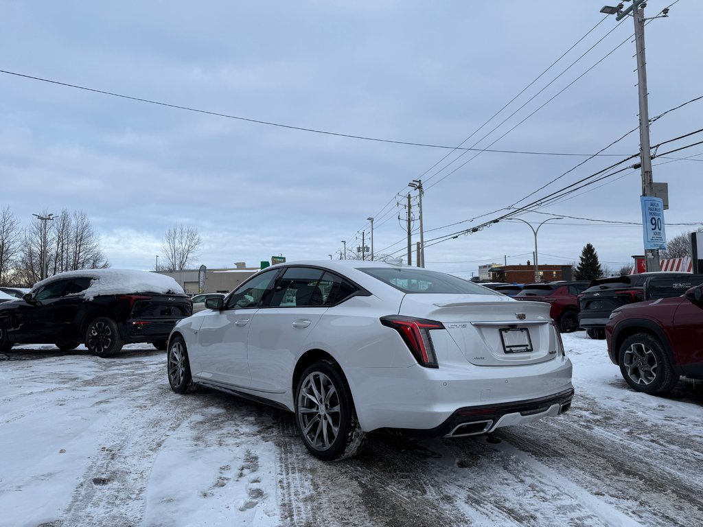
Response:
[{"label": "multi-spoke alloy rim of the white sedan's rear wheel, without tire", "polygon": [[342,417],[332,379],[323,372],[311,372],[300,386],[297,412],[308,443],[318,450],[330,448],[339,434]]}]

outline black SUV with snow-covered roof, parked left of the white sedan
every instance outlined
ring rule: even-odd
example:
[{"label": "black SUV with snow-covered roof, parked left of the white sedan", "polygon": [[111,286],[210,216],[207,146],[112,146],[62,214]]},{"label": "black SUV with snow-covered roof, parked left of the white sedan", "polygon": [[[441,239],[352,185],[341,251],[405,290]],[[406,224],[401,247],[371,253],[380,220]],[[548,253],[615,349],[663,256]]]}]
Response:
[{"label": "black SUV with snow-covered roof, parked left of the white sedan", "polygon": [[22,299],[0,304],[0,353],[14,344],[80,344],[107,357],[122,345],[166,349],[193,303],[173,278],[146,271],[68,271],[37,282]]}]

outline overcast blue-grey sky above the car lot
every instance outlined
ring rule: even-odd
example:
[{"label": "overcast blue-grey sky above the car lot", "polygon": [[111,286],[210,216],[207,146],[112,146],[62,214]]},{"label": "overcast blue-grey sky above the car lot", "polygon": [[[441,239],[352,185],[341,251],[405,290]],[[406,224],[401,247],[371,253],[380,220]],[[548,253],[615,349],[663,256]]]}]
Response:
[{"label": "overcast blue-grey sky above the car lot", "polygon": [[[376,254],[405,257],[408,191],[419,241],[407,186],[418,179],[427,267],[468,278],[483,263],[526,263],[534,235],[520,221],[442,237],[638,152],[633,131],[587,157],[638,126],[633,20],[602,15],[604,1],[5,2],[0,207],[23,225],[86,212],[116,268],[153,269],[176,223],[202,237],[194,267],[339,258],[341,240],[356,249],[364,231],[370,246],[368,217]],[[645,15],[671,4],[645,29],[650,118],[703,96],[703,2],[652,0]],[[651,143],[702,124],[700,100],[657,119]],[[446,147],[470,137],[466,148],[503,152],[290,127]],[[702,161],[698,145],[652,162],[669,183],[669,238],[703,224]],[[586,243],[614,271],[643,253],[634,162],[520,215],[535,228],[564,218],[539,230],[540,263],[578,261]]]}]

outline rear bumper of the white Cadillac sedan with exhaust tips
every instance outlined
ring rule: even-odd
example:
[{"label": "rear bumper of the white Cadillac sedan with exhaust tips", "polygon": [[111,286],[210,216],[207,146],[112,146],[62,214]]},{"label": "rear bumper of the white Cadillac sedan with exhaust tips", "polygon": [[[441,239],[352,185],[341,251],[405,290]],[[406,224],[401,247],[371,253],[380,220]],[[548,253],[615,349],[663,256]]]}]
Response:
[{"label": "rear bumper of the white Cadillac sedan with exhaust tips", "polygon": [[[364,431],[401,429],[435,437],[485,434],[565,412],[574,393],[572,364],[563,356],[523,366],[418,365],[345,372]],[[467,426],[458,430],[463,424]]]}]

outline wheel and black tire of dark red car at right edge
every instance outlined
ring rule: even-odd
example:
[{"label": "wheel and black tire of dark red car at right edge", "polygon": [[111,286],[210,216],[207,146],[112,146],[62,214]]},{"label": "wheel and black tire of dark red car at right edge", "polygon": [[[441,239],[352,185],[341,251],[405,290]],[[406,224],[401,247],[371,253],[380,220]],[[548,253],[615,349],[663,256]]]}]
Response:
[{"label": "wheel and black tire of dark red car at right edge", "polygon": [[678,384],[678,375],[662,343],[651,334],[636,333],[627,337],[618,353],[620,372],[633,390],[657,395],[669,393]]}]

